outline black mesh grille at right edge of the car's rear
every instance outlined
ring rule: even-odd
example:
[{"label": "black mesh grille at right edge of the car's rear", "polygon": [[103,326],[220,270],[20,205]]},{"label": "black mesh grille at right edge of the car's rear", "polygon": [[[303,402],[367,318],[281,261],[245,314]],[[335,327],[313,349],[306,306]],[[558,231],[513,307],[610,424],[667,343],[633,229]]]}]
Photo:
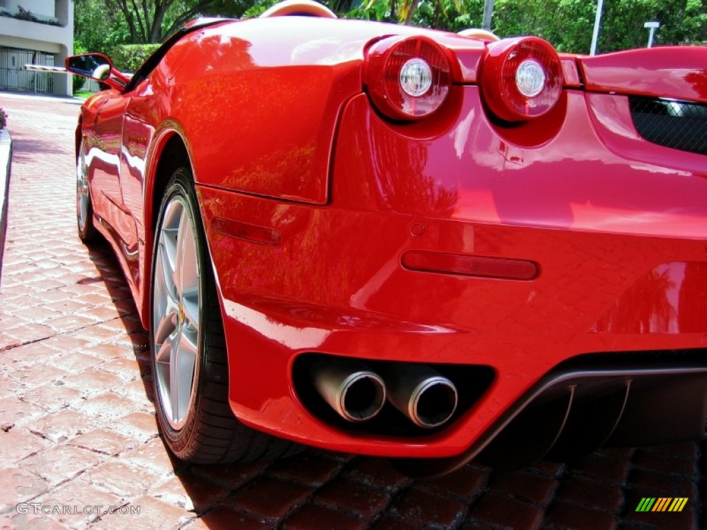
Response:
[{"label": "black mesh grille at right edge of the car's rear", "polygon": [[707,155],[707,105],[631,96],[633,124],[646,140]]}]

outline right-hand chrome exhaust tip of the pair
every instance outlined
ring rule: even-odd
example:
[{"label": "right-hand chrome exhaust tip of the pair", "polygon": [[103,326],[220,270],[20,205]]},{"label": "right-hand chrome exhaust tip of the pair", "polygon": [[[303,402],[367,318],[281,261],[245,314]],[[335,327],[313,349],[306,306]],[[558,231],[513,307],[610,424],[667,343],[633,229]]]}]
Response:
[{"label": "right-hand chrome exhaust tip of the pair", "polygon": [[457,387],[430,367],[396,365],[385,382],[388,401],[418,427],[440,427],[457,410]]}]

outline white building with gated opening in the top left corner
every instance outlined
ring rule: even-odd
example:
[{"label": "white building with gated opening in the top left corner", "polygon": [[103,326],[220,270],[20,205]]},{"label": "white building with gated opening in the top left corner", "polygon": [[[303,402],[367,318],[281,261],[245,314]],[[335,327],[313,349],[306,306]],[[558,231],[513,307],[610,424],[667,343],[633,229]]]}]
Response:
[{"label": "white building with gated opening in the top left corner", "polygon": [[64,66],[73,52],[73,0],[0,0],[0,90],[71,95],[72,76],[24,66]]}]

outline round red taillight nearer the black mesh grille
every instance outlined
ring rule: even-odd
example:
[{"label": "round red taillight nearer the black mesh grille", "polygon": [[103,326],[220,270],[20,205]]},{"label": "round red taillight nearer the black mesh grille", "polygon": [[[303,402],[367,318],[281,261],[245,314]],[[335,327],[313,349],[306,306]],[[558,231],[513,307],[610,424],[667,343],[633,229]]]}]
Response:
[{"label": "round red taillight nearer the black mesh grille", "polygon": [[506,122],[547,114],[562,93],[560,59],[549,42],[538,37],[491,42],[481,69],[484,101]]}]

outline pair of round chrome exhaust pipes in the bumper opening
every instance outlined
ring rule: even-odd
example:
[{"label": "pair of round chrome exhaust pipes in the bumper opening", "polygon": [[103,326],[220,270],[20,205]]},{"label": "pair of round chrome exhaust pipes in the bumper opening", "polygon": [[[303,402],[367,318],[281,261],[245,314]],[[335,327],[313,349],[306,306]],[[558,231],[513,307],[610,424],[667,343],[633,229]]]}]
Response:
[{"label": "pair of round chrome exhaust pipes in the bumper opening", "polygon": [[457,409],[457,388],[425,365],[390,365],[382,377],[358,360],[319,359],[312,382],[341,418],[351,422],[375,418],[385,401],[412,423],[431,429],[444,425]]}]

